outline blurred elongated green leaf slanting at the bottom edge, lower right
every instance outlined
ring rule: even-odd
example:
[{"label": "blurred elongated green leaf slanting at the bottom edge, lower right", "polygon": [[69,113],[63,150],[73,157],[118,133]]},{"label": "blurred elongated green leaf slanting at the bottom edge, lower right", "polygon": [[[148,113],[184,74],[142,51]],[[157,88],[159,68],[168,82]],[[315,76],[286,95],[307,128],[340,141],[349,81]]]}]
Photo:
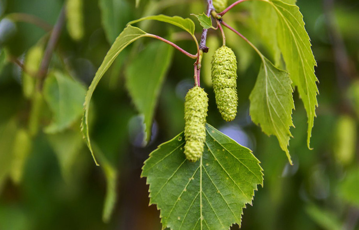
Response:
[{"label": "blurred elongated green leaf slanting at the bottom edge, lower right", "polygon": [[338,217],[334,213],[322,210],[314,204],[307,206],[308,215],[319,226],[326,230],[342,230],[342,224],[338,220]]}]

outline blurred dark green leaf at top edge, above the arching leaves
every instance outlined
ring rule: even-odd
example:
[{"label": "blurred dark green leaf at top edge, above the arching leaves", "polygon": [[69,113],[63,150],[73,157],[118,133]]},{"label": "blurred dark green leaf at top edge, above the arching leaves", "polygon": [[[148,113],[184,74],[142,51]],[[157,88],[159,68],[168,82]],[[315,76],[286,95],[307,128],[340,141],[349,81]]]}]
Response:
[{"label": "blurred dark green leaf at top edge, above the arching leaves", "polygon": [[131,8],[126,0],[99,0],[102,24],[107,40],[112,44],[131,20]]}]

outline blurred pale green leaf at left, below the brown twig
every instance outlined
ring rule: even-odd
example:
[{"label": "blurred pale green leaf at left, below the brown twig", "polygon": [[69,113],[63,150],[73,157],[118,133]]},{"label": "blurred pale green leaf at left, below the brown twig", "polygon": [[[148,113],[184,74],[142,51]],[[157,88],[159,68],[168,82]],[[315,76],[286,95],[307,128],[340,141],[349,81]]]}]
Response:
[{"label": "blurred pale green leaf at left, below the brown twig", "polygon": [[50,73],[44,84],[44,98],[53,113],[53,122],[45,132],[61,132],[81,118],[85,93],[84,86],[69,76],[60,72]]}]

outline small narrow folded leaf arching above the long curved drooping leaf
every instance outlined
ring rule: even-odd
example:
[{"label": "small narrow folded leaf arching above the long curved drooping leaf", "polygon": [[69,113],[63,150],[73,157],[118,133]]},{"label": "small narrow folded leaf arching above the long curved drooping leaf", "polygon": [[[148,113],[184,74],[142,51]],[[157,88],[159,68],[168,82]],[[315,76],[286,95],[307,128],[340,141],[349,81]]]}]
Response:
[{"label": "small narrow folded leaf arching above the long curved drooping leaf", "polygon": [[194,35],[194,22],[189,18],[183,18],[183,17],[179,17],[179,16],[170,17],[170,16],[163,15],[163,14],[147,16],[147,17],[139,18],[137,20],[130,21],[130,22],[128,22],[127,25],[132,25],[132,24],[135,24],[136,22],[143,21],[143,20],[157,20],[157,21],[167,22],[167,23],[177,26],[181,29],[184,29],[191,35]]}]

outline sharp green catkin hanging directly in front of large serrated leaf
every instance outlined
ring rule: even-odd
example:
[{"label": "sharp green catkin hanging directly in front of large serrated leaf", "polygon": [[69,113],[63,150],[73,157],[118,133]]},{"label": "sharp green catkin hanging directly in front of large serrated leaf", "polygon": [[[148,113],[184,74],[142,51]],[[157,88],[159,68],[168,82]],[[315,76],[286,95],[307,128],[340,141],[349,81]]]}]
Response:
[{"label": "sharp green catkin hanging directly in front of large serrated leaf", "polygon": [[201,158],[206,141],[208,97],[205,90],[194,86],[185,98],[185,154],[196,162]]}]

